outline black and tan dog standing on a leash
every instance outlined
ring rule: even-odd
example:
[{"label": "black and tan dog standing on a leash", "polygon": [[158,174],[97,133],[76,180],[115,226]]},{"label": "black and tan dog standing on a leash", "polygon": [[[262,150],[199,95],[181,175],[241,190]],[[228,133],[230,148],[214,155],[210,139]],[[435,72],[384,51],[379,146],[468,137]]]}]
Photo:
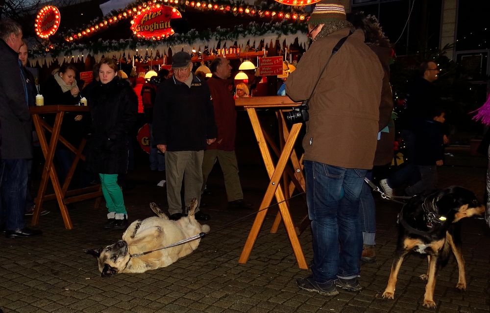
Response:
[{"label": "black and tan dog standing on a leash", "polygon": [[480,204],[475,194],[463,187],[451,186],[426,197],[411,198],[398,214],[398,242],[383,298],[393,299],[400,266],[410,251],[427,254],[427,274],[420,276],[422,280],[427,280],[424,307],[436,307],[433,298],[436,272],[440,266],[447,264],[451,251],[459,269],[456,288],[466,290],[459,221],[465,217],[483,215],[484,212],[485,206]]}]

